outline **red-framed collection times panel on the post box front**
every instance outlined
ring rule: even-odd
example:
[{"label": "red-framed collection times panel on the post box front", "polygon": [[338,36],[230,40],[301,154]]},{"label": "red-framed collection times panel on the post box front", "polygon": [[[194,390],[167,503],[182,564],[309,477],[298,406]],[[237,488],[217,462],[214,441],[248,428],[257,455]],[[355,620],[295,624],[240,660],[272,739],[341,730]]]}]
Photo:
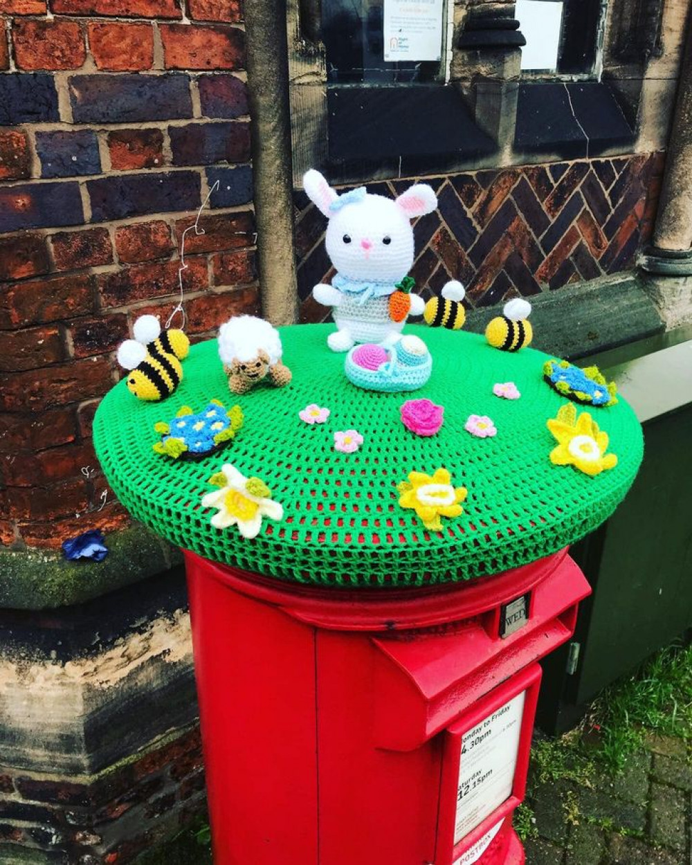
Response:
[{"label": "red-framed collection times panel on the post box front", "polygon": [[435,865],[471,865],[522,801],[541,670],[521,670],[445,733]]}]

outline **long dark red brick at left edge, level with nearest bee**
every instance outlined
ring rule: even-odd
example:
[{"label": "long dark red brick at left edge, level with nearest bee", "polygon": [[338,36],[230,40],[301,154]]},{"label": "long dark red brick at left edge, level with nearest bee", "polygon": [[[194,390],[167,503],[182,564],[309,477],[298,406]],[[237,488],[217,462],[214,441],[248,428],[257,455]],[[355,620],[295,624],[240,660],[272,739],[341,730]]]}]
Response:
[{"label": "long dark red brick at left edge, level with nearest bee", "polygon": [[34,371],[0,376],[0,409],[9,412],[63,406],[102,396],[112,386],[106,357],[90,357]]}]

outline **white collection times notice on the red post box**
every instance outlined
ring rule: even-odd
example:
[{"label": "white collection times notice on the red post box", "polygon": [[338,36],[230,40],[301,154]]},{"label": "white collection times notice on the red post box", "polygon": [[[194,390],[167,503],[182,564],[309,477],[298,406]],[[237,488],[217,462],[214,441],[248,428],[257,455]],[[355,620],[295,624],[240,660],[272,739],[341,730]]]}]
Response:
[{"label": "white collection times notice on the red post box", "polygon": [[455,844],[511,795],[524,697],[522,691],[462,736]]}]

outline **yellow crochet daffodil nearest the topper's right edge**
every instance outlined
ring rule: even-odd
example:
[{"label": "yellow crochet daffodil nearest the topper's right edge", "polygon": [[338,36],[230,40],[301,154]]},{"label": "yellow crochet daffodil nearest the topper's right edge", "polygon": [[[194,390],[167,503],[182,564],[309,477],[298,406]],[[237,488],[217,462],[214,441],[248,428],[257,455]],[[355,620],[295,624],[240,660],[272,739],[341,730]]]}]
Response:
[{"label": "yellow crochet daffodil nearest the topper's right edge", "polygon": [[548,429],[558,441],[550,453],[555,465],[573,465],[591,477],[618,465],[615,454],[606,453],[607,432],[600,432],[599,425],[587,412],[582,412],[577,420],[577,409],[572,403],[562,406],[557,416],[548,420]]}]

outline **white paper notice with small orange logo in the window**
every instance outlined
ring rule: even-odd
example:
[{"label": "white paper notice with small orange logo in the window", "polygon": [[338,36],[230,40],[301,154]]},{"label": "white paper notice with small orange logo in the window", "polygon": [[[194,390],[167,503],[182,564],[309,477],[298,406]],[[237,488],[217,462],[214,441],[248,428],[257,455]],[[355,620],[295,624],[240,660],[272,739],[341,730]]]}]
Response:
[{"label": "white paper notice with small orange logo in the window", "polygon": [[384,59],[441,60],[444,0],[384,0]]}]

